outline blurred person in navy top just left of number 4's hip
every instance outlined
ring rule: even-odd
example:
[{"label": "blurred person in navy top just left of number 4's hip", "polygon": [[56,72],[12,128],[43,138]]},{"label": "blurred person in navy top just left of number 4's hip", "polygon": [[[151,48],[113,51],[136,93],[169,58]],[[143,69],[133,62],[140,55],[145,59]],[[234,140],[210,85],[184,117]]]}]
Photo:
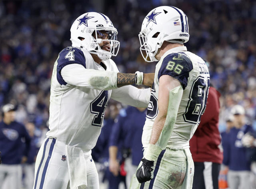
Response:
[{"label": "blurred person in navy top just left of number 4's hip", "polygon": [[36,155],[39,151],[40,144],[38,143],[39,138],[34,135],[35,125],[32,122],[25,124],[28,134],[31,137],[30,150],[28,152],[28,160],[23,166],[24,172],[24,188],[32,189],[34,184],[34,173],[35,173],[35,162]]}]

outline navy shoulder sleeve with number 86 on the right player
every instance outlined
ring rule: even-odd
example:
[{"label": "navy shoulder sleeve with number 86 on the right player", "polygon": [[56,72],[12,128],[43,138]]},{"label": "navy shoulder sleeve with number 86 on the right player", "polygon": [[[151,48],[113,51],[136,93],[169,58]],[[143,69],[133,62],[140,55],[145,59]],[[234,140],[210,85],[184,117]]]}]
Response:
[{"label": "navy shoulder sleeve with number 86 on the right player", "polygon": [[184,90],[188,85],[189,72],[192,69],[192,62],[185,53],[172,53],[164,58],[158,71],[158,80],[162,75],[172,76],[181,83]]}]

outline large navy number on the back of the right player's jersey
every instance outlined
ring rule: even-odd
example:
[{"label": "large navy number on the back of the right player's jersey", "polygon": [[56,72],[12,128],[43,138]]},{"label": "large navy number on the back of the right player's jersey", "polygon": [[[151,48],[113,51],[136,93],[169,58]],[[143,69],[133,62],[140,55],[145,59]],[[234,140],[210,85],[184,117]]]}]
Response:
[{"label": "large navy number on the back of the right player's jersey", "polygon": [[190,90],[186,112],[183,114],[186,122],[198,123],[200,121],[201,115],[206,108],[209,87],[210,78],[207,78],[207,82],[201,76],[194,80]]}]

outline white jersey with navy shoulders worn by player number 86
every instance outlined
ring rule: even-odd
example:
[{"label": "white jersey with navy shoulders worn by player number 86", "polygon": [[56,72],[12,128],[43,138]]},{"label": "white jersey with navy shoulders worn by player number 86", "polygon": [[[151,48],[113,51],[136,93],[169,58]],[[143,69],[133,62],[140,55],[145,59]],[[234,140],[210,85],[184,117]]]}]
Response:
[{"label": "white jersey with navy shoulders worn by player number 86", "polygon": [[142,133],[143,147],[147,147],[154,121],[158,115],[159,78],[169,75],[182,85],[183,95],[178,109],[174,129],[167,147],[185,147],[200,123],[206,108],[210,75],[204,60],[186,51],[186,47],[168,50],[156,65],[154,84]]}]

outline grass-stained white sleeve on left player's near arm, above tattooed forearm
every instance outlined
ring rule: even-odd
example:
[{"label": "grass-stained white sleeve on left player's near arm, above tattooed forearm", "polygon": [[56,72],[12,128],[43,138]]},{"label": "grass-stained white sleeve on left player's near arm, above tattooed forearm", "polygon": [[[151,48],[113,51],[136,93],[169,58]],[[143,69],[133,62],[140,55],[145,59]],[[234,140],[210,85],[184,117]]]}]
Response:
[{"label": "grass-stained white sleeve on left player's near arm, above tattooed forearm", "polygon": [[85,69],[80,64],[69,64],[61,70],[62,78],[68,84],[97,90],[116,89],[117,73]]}]

